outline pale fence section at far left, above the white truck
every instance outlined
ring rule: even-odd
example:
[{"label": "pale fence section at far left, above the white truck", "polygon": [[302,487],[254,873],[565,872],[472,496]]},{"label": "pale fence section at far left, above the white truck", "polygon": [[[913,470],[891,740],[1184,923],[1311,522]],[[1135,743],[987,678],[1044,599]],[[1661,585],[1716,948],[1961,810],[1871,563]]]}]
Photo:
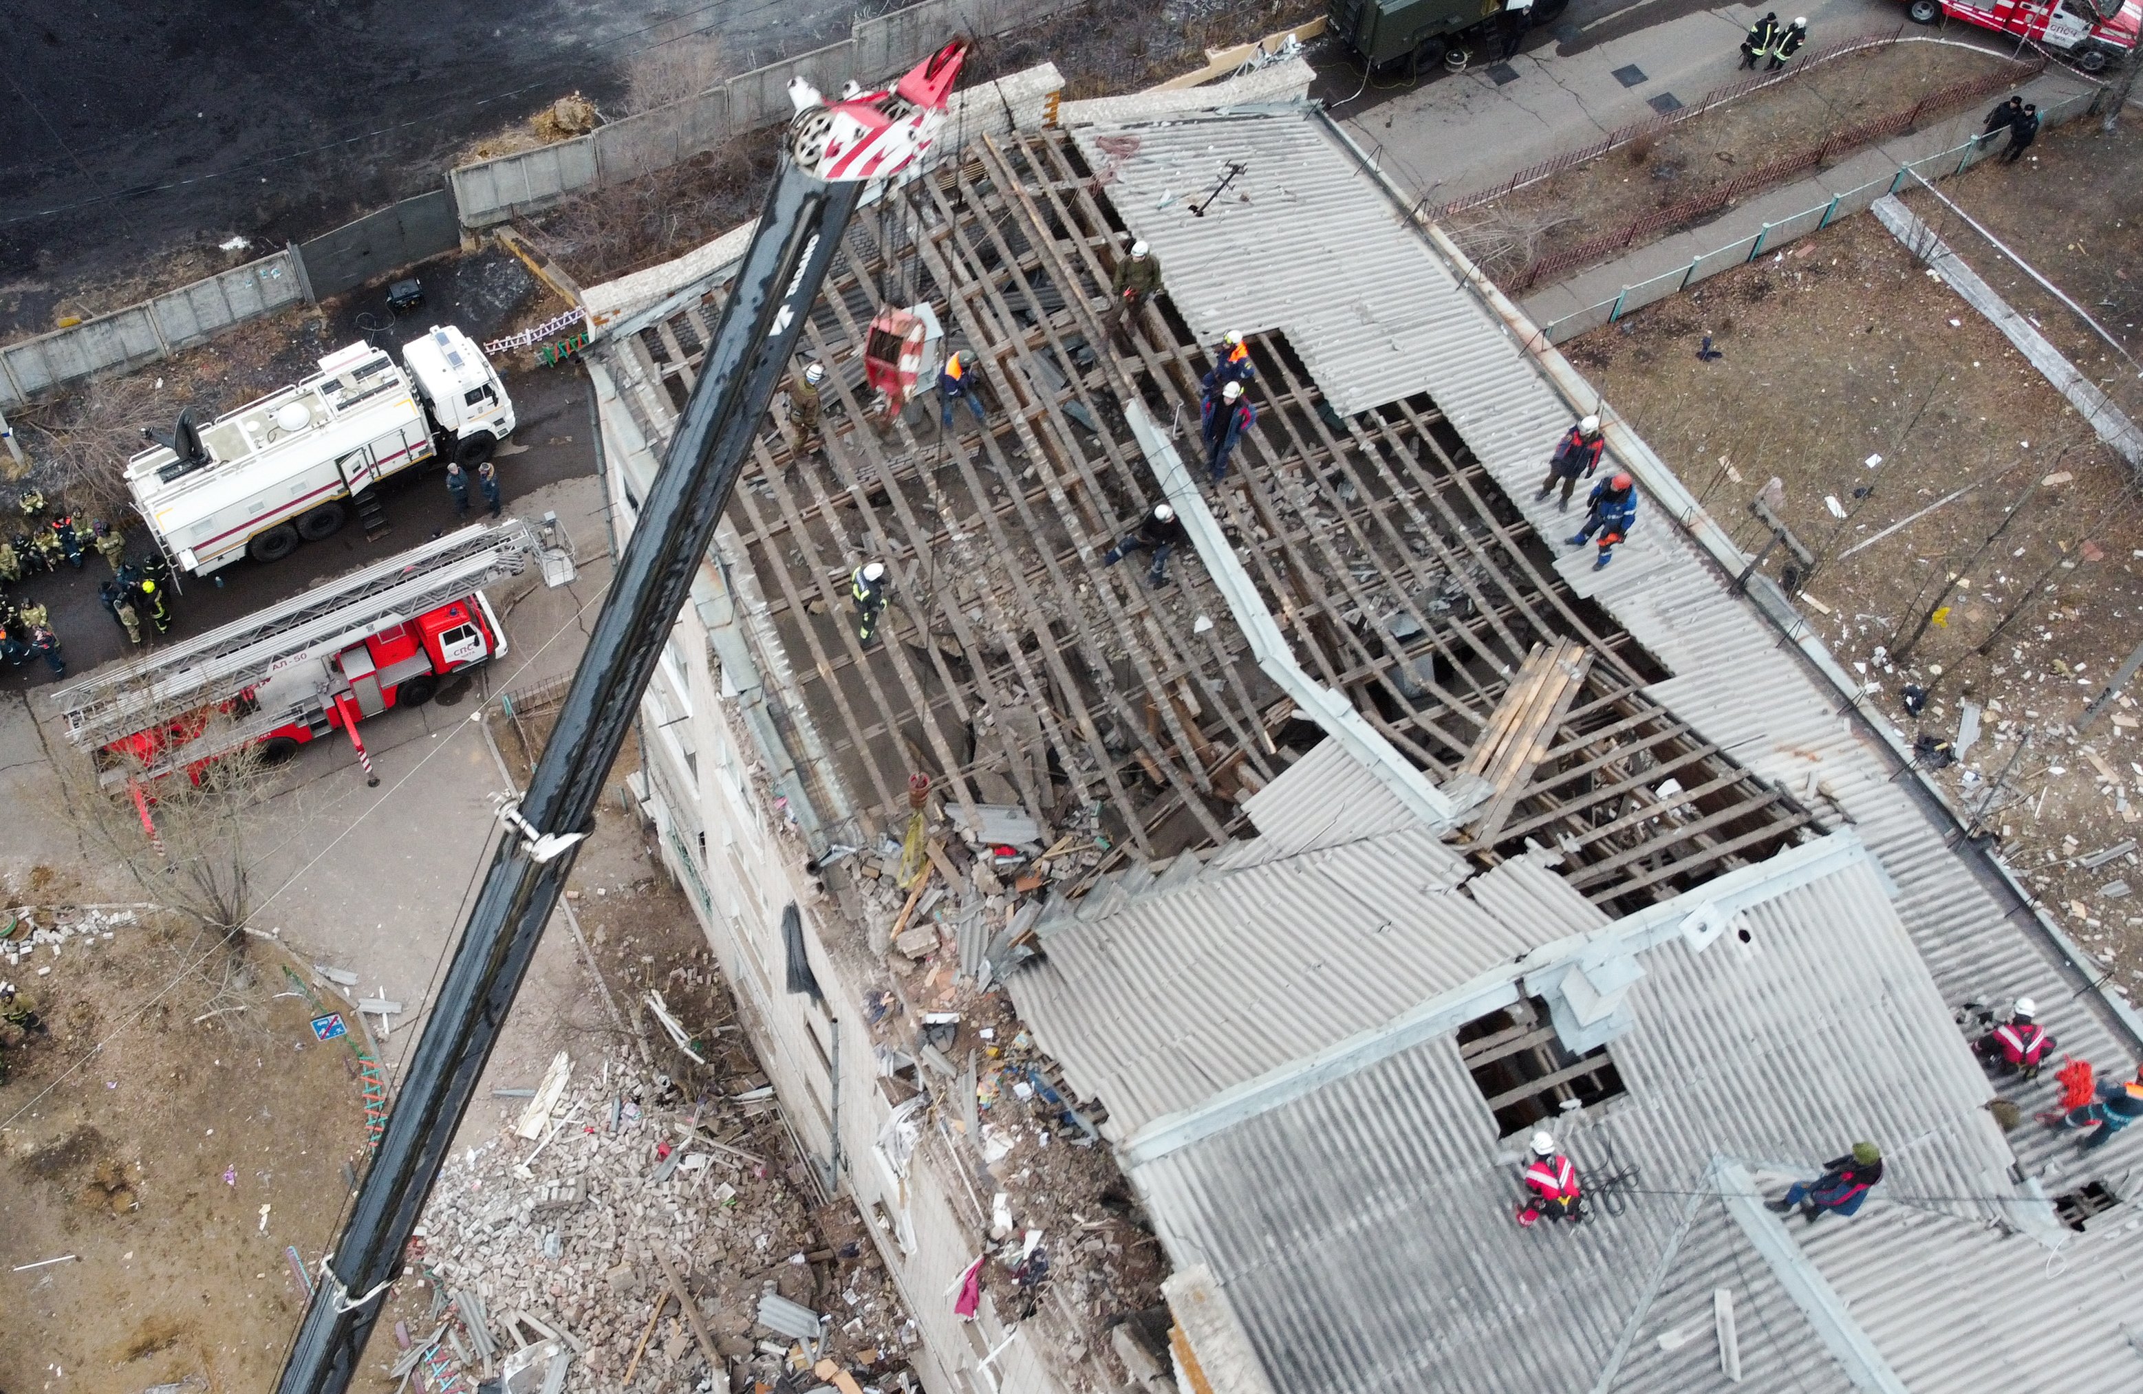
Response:
[{"label": "pale fence section at far left, above the white truck", "polygon": [[302,300],[304,281],[287,251],[234,266],[154,300],[0,347],[0,398],[21,407],[41,392],[114,368],[139,368]]}]

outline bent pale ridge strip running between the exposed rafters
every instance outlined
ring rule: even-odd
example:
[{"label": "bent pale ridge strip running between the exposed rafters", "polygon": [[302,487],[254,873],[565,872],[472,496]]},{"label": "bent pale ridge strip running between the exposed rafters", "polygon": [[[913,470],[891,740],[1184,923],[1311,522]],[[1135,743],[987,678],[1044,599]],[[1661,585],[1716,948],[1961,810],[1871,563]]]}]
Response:
[{"label": "bent pale ridge strip running between the exposed rafters", "polygon": [[1147,405],[1132,398],[1123,407],[1123,420],[1132,424],[1132,435],[1147,454],[1153,478],[1159,480],[1162,493],[1174,503],[1177,518],[1183,520],[1183,531],[1189,533],[1192,546],[1198,548],[1198,557],[1207,563],[1207,572],[1213,576],[1222,600],[1228,602],[1234,623],[1249,638],[1249,651],[1258,660],[1258,668],[1279,683],[1282,692],[1294,698],[1294,707],[1303,715],[1322,726],[1363,769],[1376,775],[1378,784],[1391,790],[1410,814],[1432,829],[1451,827],[1464,812],[1462,805],[1429,784],[1427,775],[1414,769],[1380,730],[1354,711],[1354,702],[1324,687],[1303,670],[1294,657],[1294,649],[1288,647],[1288,636],[1279,632],[1279,621],[1273,619],[1273,610],[1258,595],[1256,582],[1252,582],[1243,561],[1234,555],[1234,546],[1222,531],[1219,518],[1207,507],[1204,495],[1198,493],[1198,484],[1192,480],[1192,471],[1183,467],[1183,456],[1177,454],[1174,443],[1147,415]]}]

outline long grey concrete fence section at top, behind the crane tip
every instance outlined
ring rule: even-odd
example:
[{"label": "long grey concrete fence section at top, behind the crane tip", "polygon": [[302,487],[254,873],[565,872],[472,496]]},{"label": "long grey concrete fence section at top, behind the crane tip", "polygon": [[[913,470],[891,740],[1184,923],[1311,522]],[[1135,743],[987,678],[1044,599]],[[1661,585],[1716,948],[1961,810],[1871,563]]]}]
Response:
[{"label": "long grey concrete fence section at top, behind the crane tip", "polygon": [[579,188],[617,184],[677,165],[733,135],[789,118],[789,81],[821,90],[851,75],[883,79],[921,62],[945,34],[975,39],[1033,24],[1076,0],[924,0],[859,19],[849,39],[739,73],[696,96],[611,122],[570,141],[461,165],[448,173],[463,227],[495,227],[540,212]]}]

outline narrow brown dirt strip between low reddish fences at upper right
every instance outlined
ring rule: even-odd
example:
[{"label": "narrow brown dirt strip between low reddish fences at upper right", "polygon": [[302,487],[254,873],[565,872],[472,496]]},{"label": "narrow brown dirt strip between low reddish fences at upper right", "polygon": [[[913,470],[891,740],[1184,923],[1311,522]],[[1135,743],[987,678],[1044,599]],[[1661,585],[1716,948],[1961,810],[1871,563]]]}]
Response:
[{"label": "narrow brown dirt strip between low reddish fences at upper right", "polygon": [[[1723,188],[1774,158],[1914,103],[2006,60],[1939,43],[1894,43],[1811,69],[1794,81],[1695,116],[1663,135],[1528,184],[1453,216],[1459,246],[1492,276],[1509,276],[1663,208]],[[1674,229],[1661,229],[1661,236]]]}]

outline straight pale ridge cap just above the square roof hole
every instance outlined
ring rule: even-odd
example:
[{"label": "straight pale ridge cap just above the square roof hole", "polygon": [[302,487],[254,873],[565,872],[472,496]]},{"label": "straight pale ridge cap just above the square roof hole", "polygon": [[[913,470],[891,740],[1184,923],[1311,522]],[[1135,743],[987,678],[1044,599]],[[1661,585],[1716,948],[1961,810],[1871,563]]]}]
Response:
[{"label": "straight pale ridge cap just above the square roof hole", "polygon": [[1391,1021],[1369,1026],[1316,1054],[1219,1090],[1187,1109],[1149,1120],[1147,1126],[1138,1128],[1123,1143],[1119,1161],[1125,1171],[1132,1171],[1215,1133],[1226,1133],[1239,1122],[1271,1113],[1305,1094],[1314,1094],[1335,1079],[1346,1079],[1417,1045],[1447,1036],[1466,1021],[1517,1002],[1524,979],[1532,974],[1556,966],[1597,964],[1618,953],[1635,955],[1657,949],[1672,938],[1680,938],[1682,921],[1704,906],[1717,906],[1721,914],[1732,919],[1740,910],[1777,899],[1787,891],[1843,872],[1864,859],[1869,859],[1869,850],[1860,842],[1860,835],[1852,829],[1841,829],[1828,837],[1785,848],[1768,861],[1734,867],[1695,891],[1684,891],[1674,899],[1624,914],[1612,925],[1588,934],[1567,934],[1470,983],[1440,991]]}]

